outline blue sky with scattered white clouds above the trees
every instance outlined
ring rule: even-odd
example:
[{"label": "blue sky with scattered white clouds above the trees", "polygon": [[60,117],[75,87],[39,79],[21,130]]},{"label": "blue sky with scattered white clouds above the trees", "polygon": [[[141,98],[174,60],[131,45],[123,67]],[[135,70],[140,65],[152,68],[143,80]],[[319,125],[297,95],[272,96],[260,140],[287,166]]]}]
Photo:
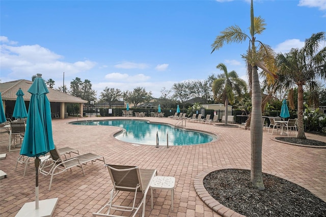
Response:
[{"label": "blue sky with scattered white clouds above the trees", "polygon": [[[326,31],[326,0],[257,0],[266,30],[257,40],[276,52],[302,47]],[[250,1],[0,1],[0,79],[31,80],[36,73],[55,88],[75,77],[154,97],[174,83],[220,74],[224,63],[247,80],[241,54],[248,43],[226,44],[211,54],[225,28],[249,34]]]}]

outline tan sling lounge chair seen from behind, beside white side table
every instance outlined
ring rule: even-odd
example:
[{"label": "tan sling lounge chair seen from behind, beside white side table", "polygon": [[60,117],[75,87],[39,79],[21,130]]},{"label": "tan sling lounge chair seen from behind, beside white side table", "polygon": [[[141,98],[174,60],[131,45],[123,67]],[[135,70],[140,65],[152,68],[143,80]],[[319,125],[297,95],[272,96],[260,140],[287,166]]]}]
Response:
[{"label": "tan sling lounge chair seen from behind, beside white side table", "polygon": [[[113,189],[110,193],[110,200],[98,212],[93,212],[93,216],[121,216],[116,213],[110,214],[110,211],[128,211],[135,210],[132,216],[135,216],[143,205],[142,216],[145,215],[146,195],[150,187],[150,183],[157,175],[154,169],[140,169],[135,166],[122,165],[106,165],[108,173],[113,183]],[[121,200],[114,200],[119,192],[134,192],[132,206],[124,206]],[[136,204],[137,193],[142,194],[141,201]],[[120,213],[120,212],[119,212]]]}]

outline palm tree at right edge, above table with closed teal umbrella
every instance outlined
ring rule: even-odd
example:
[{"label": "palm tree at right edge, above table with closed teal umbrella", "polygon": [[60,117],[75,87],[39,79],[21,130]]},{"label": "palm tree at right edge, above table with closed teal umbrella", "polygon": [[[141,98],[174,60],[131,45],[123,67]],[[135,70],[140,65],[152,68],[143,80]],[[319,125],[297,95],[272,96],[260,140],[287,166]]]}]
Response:
[{"label": "palm tree at right edge, above table with closed teal umbrella", "polygon": [[316,79],[326,79],[326,46],[321,46],[324,40],[324,32],[312,34],[301,49],[292,48],[288,53],[277,56],[280,82],[287,88],[297,86],[298,139],[306,139],[303,87],[307,85],[310,91],[314,90],[317,86]]}]

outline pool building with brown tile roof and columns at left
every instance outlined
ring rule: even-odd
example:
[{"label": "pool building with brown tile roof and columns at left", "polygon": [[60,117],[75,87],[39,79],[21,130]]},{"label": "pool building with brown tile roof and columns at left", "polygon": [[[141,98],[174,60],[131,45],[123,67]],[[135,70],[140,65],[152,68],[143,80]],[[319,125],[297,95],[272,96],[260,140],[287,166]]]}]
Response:
[{"label": "pool building with brown tile roof and columns at left", "polygon": [[[2,96],[2,103],[5,108],[7,117],[11,117],[14,111],[15,102],[17,98],[17,91],[19,88],[24,93],[23,99],[28,110],[31,94],[28,92],[33,82],[30,80],[13,80],[12,82],[0,83],[0,92]],[[49,93],[46,94],[51,104],[51,113],[53,117],[59,117],[64,119],[67,116],[67,103],[79,103],[79,114],[83,114],[83,103],[87,103],[87,100],[63,93],[61,91],[47,88]],[[57,115],[54,115],[57,114]]]}]

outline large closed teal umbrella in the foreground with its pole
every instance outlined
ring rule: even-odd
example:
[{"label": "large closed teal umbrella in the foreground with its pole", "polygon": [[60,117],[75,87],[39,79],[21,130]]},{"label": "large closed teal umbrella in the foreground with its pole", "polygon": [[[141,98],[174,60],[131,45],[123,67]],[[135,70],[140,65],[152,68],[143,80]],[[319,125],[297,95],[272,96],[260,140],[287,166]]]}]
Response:
[{"label": "large closed teal umbrella in the foreground with its pole", "polygon": [[[55,149],[55,144],[52,137],[52,123],[51,123],[51,107],[50,102],[46,96],[49,92],[46,88],[44,80],[41,77],[42,74],[37,74],[32,86],[28,90],[32,94],[29,106],[28,121],[26,123],[26,130],[24,135],[24,140],[21,145],[20,154],[36,157],[35,158],[35,173],[36,173],[36,184],[35,184],[35,209],[39,208],[39,198],[38,198],[38,171],[40,165],[39,156],[46,154],[52,149]],[[57,204],[58,198],[49,199],[53,200],[51,206],[54,207]],[[42,209],[49,209],[48,203],[47,207],[42,207]],[[34,202],[32,202],[34,203]],[[26,203],[28,204],[28,203]],[[26,205],[25,204],[25,205]],[[25,206],[24,205],[24,206]],[[23,209],[24,207],[22,207]],[[21,210],[20,210],[21,211]],[[40,211],[38,211],[40,212]]]}]

